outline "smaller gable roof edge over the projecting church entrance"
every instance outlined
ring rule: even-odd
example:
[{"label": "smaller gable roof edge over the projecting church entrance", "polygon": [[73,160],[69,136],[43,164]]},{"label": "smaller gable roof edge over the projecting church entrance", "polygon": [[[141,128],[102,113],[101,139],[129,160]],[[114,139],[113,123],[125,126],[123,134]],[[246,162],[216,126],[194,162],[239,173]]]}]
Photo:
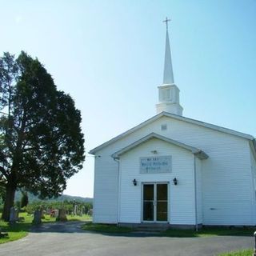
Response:
[{"label": "smaller gable roof edge over the projecting church entrance", "polygon": [[112,154],[112,158],[119,158],[119,156],[121,156],[122,154],[125,154],[126,152],[134,149],[135,147],[139,146],[144,142],[148,142],[151,138],[158,138],[164,142],[173,144],[174,146],[182,147],[185,150],[189,150],[192,154],[196,155],[200,159],[208,158],[208,155],[205,152],[197,149],[194,146],[188,146],[182,142],[174,141],[173,139],[166,138],[165,136],[162,136],[160,134],[155,134],[155,133],[148,134],[145,137],[140,138],[138,141],[130,144],[129,146],[124,147],[122,150],[118,150],[118,152],[115,152],[114,154]]}]

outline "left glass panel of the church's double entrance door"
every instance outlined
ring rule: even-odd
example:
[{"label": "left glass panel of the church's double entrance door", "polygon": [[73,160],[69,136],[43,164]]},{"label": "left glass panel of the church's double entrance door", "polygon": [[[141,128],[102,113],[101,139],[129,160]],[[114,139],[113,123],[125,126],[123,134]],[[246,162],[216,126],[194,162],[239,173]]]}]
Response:
[{"label": "left glass panel of the church's double entrance door", "polygon": [[154,221],[154,184],[143,186],[143,221]]}]

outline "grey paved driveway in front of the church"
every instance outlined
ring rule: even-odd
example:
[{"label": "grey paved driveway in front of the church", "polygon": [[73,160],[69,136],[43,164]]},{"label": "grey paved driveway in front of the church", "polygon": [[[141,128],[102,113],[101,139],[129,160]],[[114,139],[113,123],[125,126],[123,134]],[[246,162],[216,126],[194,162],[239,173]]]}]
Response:
[{"label": "grey paved driveway in front of the church", "polygon": [[1,256],[216,255],[252,248],[253,238],[165,238],[146,234],[107,235],[79,229],[81,222],[44,224],[26,238],[0,245]]}]

